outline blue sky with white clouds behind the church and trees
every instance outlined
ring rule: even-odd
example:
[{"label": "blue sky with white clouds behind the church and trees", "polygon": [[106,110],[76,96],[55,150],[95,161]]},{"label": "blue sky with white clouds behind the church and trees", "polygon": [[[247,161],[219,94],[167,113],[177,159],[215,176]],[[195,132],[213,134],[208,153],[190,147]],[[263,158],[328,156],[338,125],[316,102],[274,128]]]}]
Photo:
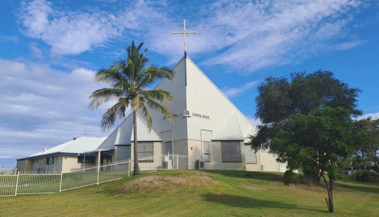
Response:
[{"label": "blue sky with white clouds behind the church and trees", "polygon": [[104,137],[107,105],[87,110],[103,84],[93,73],[145,41],[152,64],[188,56],[253,122],[257,85],[268,75],[329,70],[363,92],[379,116],[379,2],[13,1],[0,7],[0,165],[84,135]]}]

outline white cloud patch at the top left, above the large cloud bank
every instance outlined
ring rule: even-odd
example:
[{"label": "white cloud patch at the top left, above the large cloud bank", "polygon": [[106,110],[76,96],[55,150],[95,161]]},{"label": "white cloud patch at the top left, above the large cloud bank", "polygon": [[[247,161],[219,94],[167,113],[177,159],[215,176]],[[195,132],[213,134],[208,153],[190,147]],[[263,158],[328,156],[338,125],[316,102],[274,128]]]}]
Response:
[{"label": "white cloud patch at the top left, above the large cloud bank", "polygon": [[57,55],[79,54],[120,36],[115,19],[112,13],[102,11],[91,14],[54,10],[52,3],[45,0],[24,3],[21,15],[26,35],[42,39]]}]

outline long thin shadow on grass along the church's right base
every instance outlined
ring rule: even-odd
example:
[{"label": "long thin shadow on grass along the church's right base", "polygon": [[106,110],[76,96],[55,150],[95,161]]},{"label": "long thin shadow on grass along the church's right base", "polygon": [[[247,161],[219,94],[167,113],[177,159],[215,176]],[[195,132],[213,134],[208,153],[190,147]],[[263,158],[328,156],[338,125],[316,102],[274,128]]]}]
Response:
[{"label": "long thin shadow on grass along the church's right base", "polygon": [[246,178],[256,179],[263,181],[283,181],[282,173],[274,172],[249,172],[249,171],[237,171],[237,170],[204,170],[207,173],[220,174],[233,178]]}]

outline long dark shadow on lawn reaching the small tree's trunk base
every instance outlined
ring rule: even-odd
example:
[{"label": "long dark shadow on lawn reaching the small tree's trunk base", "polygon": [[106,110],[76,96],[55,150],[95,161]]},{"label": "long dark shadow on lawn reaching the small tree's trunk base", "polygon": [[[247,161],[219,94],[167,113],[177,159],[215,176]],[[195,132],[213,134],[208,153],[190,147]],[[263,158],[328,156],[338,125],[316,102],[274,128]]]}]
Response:
[{"label": "long dark shadow on lawn reaching the small tree's trunk base", "polygon": [[309,211],[317,211],[327,213],[326,210],[316,210],[316,209],[308,209],[299,207],[292,204],[287,204],[278,201],[269,201],[256,199],[251,197],[244,197],[238,195],[230,195],[230,194],[213,194],[207,193],[202,194],[203,200],[218,204],[224,204],[231,207],[241,207],[241,208],[279,208],[279,209],[297,209],[297,210],[309,210]]}]

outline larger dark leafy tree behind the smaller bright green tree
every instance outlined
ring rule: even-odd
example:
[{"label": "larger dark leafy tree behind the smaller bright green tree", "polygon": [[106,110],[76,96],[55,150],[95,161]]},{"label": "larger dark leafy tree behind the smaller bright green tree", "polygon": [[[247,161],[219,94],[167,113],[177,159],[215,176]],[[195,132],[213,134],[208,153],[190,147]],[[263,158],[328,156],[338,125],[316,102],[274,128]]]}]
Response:
[{"label": "larger dark leafy tree behind the smaller bright green tree", "polygon": [[[271,149],[274,136],[292,114],[306,115],[324,107],[341,107],[351,115],[361,114],[356,99],[360,90],[349,87],[329,71],[294,72],[290,78],[269,76],[258,87],[258,93],[256,117],[262,125],[258,126],[258,134],[251,137],[257,149]],[[278,160],[283,161],[280,156]],[[316,155],[303,163],[303,173],[319,183],[321,177],[316,168]]]}]

